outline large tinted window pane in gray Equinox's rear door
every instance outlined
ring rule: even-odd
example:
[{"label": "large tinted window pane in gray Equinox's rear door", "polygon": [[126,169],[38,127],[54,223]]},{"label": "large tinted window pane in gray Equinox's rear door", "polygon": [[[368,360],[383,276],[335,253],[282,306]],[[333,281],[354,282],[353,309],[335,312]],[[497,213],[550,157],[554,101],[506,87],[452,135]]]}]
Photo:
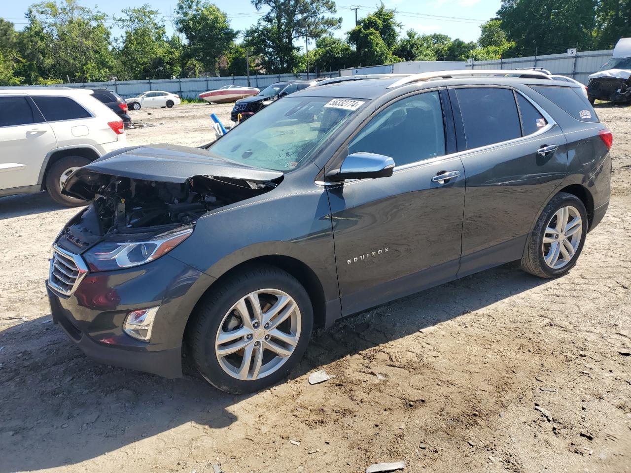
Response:
[{"label": "large tinted window pane in gray Equinox's rear door", "polygon": [[468,149],[521,137],[512,90],[461,88],[456,89],[456,96],[463,115]]}]

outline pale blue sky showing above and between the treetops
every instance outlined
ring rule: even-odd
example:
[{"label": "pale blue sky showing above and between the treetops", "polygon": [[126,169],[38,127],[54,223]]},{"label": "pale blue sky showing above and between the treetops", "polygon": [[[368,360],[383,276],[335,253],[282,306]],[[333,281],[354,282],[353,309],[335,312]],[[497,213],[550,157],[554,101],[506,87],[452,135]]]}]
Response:
[{"label": "pale blue sky showing above and between the treetops", "polygon": [[[0,6],[0,16],[14,21],[16,28],[21,29],[26,22],[24,12],[32,3],[30,0],[5,0]],[[110,21],[112,15],[121,15],[124,6],[141,6],[149,3],[167,17],[165,24],[167,32],[171,33],[172,26],[168,17],[172,16],[177,0],[126,0],[108,3],[80,0],[80,3],[91,7],[96,4],[100,11],[110,16]],[[213,3],[228,14],[230,25],[237,30],[245,30],[256,23],[262,15],[249,0],[215,0]],[[351,10],[351,7],[360,6],[359,18],[377,8],[375,0],[338,0],[336,4],[338,15],[343,18],[341,30],[335,33],[339,37],[343,37],[355,26],[355,11]],[[465,41],[475,41],[480,36],[480,24],[495,16],[495,12],[500,8],[500,0],[384,0],[384,4],[399,11],[398,20],[403,23],[402,32],[413,28],[419,33],[443,33]],[[119,30],[114,29],[114,35],[119,33]]]}]

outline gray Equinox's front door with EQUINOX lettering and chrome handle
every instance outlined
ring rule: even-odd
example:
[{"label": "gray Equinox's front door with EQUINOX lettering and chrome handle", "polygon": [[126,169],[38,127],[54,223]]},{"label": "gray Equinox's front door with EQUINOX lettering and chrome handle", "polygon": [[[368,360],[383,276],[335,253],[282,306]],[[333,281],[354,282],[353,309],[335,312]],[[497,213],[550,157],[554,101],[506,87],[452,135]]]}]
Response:
[{"label": "gray Equinox's front door with EQUINOX lettering and chrome handle", "polygon": [[344,315],[456,277],[465,176],[442,110],[437,90],[384,108],[348,151],[391,156],[393,175],[327,187]]}]

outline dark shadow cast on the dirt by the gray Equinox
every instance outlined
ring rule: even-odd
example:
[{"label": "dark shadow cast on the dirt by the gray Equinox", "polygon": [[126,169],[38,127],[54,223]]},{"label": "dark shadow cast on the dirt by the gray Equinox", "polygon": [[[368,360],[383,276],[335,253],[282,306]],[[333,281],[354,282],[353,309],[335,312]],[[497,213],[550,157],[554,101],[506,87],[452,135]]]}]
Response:
[{"label": "dark shadow cast on the dirt by the gray Equinox", "polygon": [[[315,332],[291,378],[545,283],[505,265],[362,312]],[[105,465],[124,459],[122,447],[156,435],[161,441],[136,448],[160,456],[184,442],[182,450],[194,453],[191,441],[213,445],[215,429],[238,424],[230,411],[250,397],[216,390],[190,366],[184,378],[166,380],[93,363],[49,315],[0,332],[0,347],[0,473],[101,455]]]}]

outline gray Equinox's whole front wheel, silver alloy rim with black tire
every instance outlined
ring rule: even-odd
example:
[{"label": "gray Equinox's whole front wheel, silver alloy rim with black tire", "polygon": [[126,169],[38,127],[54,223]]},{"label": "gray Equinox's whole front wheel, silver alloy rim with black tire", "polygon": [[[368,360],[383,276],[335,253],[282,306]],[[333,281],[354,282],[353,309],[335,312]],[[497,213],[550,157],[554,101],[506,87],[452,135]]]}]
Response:
[{"label": "gray Equinox's whole front wheel, silver alloy rim with black tire", "polygon": [[285,378],[307,348],[313,309],[290,274],[261,266],[232,277],[203,303],[191,330],[199,372],[235,394]]}]

